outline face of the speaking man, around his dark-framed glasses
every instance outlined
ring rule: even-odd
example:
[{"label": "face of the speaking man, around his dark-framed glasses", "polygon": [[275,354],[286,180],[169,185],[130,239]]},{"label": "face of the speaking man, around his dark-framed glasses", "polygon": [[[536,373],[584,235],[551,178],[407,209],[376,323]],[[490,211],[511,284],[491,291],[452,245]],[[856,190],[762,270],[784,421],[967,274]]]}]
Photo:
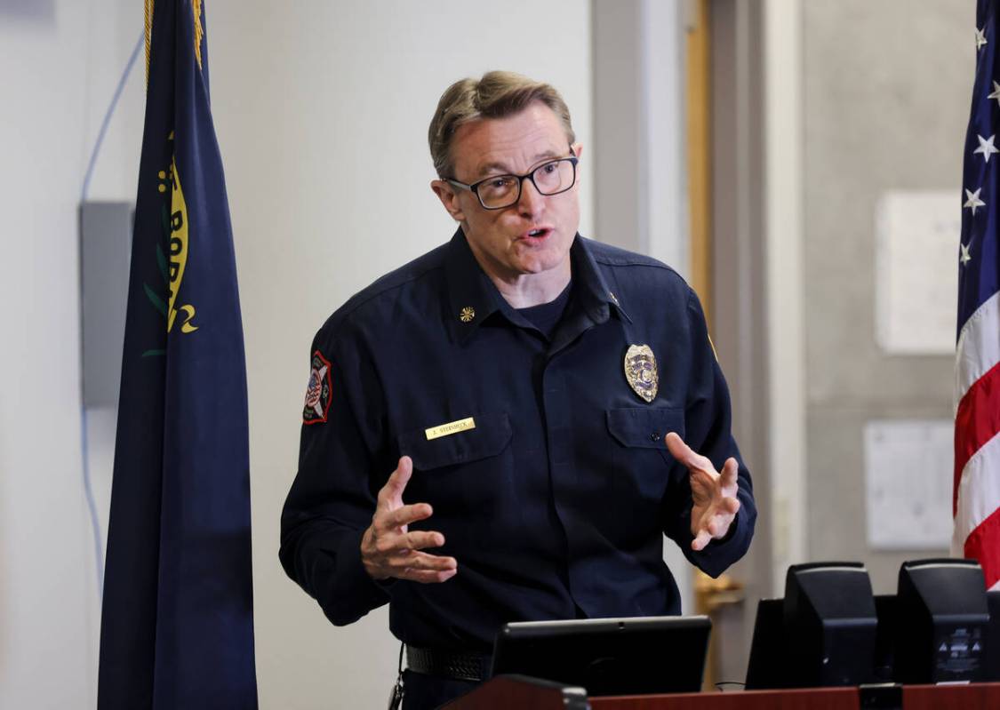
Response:
[{"label": "face of the speaking man, around his dark-framed glasses", "polygon": [[[573,146],[580,155],[579,144]],[[463,124],[451,154],[454,177],[472,184],[492,175],[523,175],[570,146],[556,114],[535,102],[518,114]],[[435,180],[434,192],[462,224],[476,260],[494,280],[515,283],[527,274],[560,281],[569,276],[569,248],[580,223],[579,180],[558,195],[541,195],[525,180],[517,203],[487,210],[468,190]]]}]

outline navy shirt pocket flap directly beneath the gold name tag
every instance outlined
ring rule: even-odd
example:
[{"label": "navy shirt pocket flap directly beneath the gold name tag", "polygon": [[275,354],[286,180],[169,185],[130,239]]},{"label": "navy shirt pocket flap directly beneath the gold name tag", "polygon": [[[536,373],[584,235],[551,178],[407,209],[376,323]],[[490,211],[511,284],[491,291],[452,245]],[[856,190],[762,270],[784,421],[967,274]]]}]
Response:
[{"label": "navy shirt pocket flap directly beneath the gold name tag", "polygon": [[476,426],[455,434],[427,439],[425,429],[399,435],[399,451],[413,459],[413,467],[426,471],[441,466],[478,461],[496,456],[510,443],[512,431],[506,413],[476,414]]}]

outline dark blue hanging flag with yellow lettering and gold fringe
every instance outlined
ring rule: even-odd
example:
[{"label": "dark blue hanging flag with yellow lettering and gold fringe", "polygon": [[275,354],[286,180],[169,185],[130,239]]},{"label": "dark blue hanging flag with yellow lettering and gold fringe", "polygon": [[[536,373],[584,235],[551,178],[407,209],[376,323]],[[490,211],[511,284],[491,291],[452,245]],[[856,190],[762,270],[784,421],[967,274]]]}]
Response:
[{"label": "dark blue hanging flag with yellow lettering and gold fringe", "polygon": [[146,10],[97,704],[256,708],[246,361],[202,2]]}]

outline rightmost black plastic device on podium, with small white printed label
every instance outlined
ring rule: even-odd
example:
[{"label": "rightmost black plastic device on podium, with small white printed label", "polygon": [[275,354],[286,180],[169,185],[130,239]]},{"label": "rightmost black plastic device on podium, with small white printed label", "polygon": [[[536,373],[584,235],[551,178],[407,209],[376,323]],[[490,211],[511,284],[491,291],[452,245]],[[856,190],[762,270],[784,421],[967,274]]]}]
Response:
[{"label": "rightmost black plastic device on podium, with small white printed label", "polygon": [[977,562],[903,563],[896,613],[896,682],[974,682],[988,677],[990,612],[983,570]]}]

